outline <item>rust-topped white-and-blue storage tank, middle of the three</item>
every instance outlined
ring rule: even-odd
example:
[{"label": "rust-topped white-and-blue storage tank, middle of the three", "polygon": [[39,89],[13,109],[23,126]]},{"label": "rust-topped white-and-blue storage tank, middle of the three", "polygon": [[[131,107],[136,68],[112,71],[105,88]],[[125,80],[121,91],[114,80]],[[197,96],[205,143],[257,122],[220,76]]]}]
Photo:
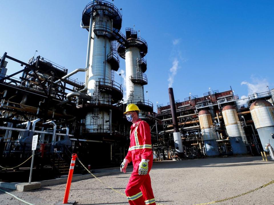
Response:
[{"label": "rust-topped white-and-blue storage tank, middle of the three", "polygon": [[243,143],[240,128],[238,126],[240,120],[236,108],[232,105],[226,105],[223,107],[222,115],[233,154],[247,154],[247,148]]}]

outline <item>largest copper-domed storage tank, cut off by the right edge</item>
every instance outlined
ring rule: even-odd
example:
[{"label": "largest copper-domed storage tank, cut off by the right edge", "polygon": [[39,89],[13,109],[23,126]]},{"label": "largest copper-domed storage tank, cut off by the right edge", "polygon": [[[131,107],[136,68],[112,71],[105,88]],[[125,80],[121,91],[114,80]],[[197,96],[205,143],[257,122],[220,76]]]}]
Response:
[{"label": "largest copper-domed storage tank, cut off by the right edge", "polygon": [[264,151],[267,144],[274,145],[274,139],[271,135],[274,133],[274,108],[271,103],[266,100],[257,100],[250,105],[250,113],[255,128],[259,134],[261,144]]}]

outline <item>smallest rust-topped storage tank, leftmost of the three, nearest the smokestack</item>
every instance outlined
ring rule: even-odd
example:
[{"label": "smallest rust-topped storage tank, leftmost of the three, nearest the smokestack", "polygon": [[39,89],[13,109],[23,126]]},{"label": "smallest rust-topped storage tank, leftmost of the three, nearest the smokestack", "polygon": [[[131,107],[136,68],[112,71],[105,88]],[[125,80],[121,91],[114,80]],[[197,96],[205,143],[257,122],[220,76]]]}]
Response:
[{"label": "smallest rust-topped storage tank, leftmost of the three, nearest the smokestack", "polygon": [[201,110],[198,118],[207,156],[219,155],[216,135],[211,131],[211,125],[213,125],[211,114],[207,110]]}]

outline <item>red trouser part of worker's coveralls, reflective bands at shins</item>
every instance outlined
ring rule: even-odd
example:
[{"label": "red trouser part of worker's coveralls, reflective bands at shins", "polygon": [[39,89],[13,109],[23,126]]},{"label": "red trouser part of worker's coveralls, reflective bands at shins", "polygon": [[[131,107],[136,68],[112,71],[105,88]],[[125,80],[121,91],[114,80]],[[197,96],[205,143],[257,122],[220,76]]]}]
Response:
[{"label": "red trouser part of worker's coveralls, reflective bands at shins", "polygon": [[[148,173],[152,167],[151,163],[148,164]],[[139,175],[139,162],[133,167],[133,172],[126,186],[126,196],[130,205],[156,205],[153,191],[151,188],[151,181],[149,174]]]}]

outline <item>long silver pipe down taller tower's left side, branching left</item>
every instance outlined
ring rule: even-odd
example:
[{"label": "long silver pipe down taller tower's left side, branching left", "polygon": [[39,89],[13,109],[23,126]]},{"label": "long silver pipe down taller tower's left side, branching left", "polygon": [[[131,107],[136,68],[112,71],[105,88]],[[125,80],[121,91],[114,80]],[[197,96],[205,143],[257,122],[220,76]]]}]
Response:
[{"label": "long silver pipe down taller tower's left side, branching left", "polygon": [[[88,49],[87,49],[87,52],[86,52],[86,67],[84,69],[78,68],[78,69],[72,71],[71,73],[65,75],[64,77],[62,77],[62,79],[66,79],[66,78],[70,77],[71,75],[73,75],[73,74],[75,74],[75,73],[77,73],[79,71],[80,72],[84,72],[85,71],[86,72],[85,87],[82,90],[79,90],[79,92],[83,92],[83,91],[86,91],[88,89],[88,87],[87,87],[88,86],[87,80],[88,80],[88,68],[89,68],[89,60],[90,60],[90,42],[91,42],[91,34],[92,34],[92,22],[93,22],[93,16],[91,14],[90,15],[90,22],[89,22],[89,26],[88,26],[91,29],[89,29],[89,31],[88,31]],[[82,21],[81,21],[80,26],[81,25],[82,25]],[[59,79],[59,80],[55,81],[55,83],[61,82],[62,79]]]}]

